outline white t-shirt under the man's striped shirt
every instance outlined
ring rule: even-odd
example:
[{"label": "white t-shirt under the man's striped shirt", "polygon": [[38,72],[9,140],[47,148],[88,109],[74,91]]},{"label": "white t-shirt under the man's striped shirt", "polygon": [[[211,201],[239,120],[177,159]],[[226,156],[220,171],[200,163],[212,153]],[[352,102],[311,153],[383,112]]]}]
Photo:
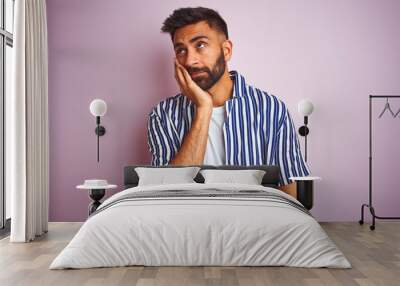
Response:
[{"label": "white t-shirt under the man's striped shirt", "polygon": [[214,107],[208,128],[204,165],[225,165],[225,142],[222,129],[224,121],[225,106]]}]

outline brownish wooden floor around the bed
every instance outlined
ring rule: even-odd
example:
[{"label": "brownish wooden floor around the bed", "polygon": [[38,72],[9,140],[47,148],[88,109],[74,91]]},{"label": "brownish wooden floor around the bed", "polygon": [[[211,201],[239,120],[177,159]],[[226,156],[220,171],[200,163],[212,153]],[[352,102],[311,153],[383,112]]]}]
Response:
[{"label": "brownish wooden floor around the bed", "polygon": [[0,241],[0,285],[400,285],[400,222],[323,223],[353,268],[119,267],[48,270],[80,223],[50,223],[32,243]]}]

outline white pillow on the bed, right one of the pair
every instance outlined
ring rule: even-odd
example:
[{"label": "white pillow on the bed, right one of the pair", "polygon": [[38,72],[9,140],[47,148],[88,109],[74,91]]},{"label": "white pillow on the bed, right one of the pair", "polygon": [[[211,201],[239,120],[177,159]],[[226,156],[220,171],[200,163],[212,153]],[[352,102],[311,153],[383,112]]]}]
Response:
[{"label": "white pillow on the bed, right one of the pair", "polygon": [[204,183],[236,183],[261,185],[265,171],[262,170],[201,170]]}]

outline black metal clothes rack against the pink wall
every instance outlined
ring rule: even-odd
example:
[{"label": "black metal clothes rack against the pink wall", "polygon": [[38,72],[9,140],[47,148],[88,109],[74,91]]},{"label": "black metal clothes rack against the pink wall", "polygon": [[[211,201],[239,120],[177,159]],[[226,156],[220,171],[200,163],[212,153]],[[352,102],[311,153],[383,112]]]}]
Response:
[{"label": "black metal clothes rack against the pink wall", "polygon": [[372,225],[369,226],[371,230],[375,229],[375,219],[400,219],[400,217],[384,217],[378,216],[372,205],[372,100],[374,98],[400,98],[400,95],[370,95],[369,96],[369,199],[368,204],[361,206],[361,219],[359,224],[364,224],[364,207],[369,208],[372,215]]}]

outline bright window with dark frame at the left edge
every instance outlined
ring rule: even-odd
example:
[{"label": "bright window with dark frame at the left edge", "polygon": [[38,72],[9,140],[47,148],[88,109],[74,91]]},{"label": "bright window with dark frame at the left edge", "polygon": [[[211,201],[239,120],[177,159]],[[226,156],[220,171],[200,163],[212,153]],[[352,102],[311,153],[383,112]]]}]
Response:
[{"label": "bright window with dark frame at the left edge", "polygon": [[9,228],[10,194],[5,188],[5,104],[11,93],[13,67],[14,0],[0,0],[0,236]]}]

